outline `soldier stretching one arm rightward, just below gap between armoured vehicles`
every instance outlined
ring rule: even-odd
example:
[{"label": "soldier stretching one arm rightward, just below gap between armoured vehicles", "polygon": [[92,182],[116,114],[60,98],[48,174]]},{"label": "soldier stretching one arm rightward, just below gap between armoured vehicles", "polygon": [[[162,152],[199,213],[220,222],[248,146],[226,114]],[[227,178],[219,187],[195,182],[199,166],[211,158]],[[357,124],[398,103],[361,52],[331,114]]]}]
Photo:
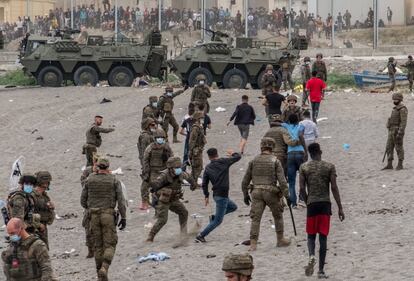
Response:
[{"label": "soldier stretching one arm rightward, just below gap between armoured vehicles", "polygon": [[179,90],[173,92],[174,89],[171,86],[165,88],[165,93],[160,97],[158,101],[158,109],[160,110],[160,116],[162,117],[162,129],[165,131],[168,139],[168,127],[171,125],[173,127],[173,142],[178,143],[177,133],[178,133],[178,123],[175,119],[173,109],[174,109],[174,98],[178,95],[184,93],[187,90],[188,86],[185,86],[184,90]]}]

